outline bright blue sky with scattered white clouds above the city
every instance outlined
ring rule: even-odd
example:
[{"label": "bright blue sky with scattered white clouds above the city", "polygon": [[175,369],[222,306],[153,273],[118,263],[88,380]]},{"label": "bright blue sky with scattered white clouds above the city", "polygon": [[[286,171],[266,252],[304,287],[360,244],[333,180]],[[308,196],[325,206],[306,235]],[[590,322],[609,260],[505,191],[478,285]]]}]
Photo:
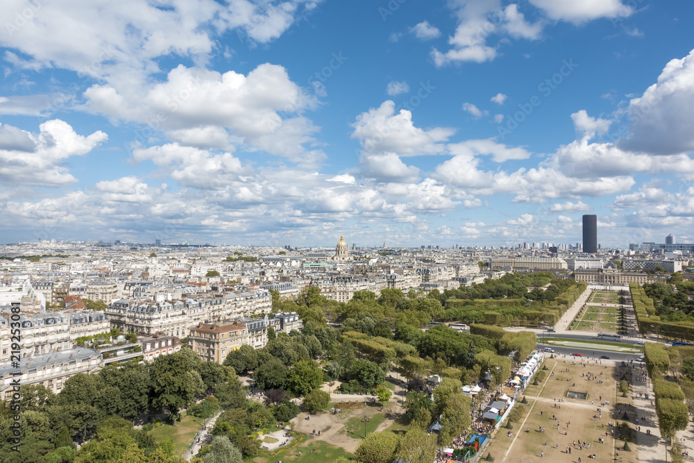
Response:
[{"label": "bright blue sky with scattered white clouds above the city", "polygon": [[[0,242],[694,241],[655,0],[4,0]],[[687,32],[689,31],[689,32]]]}]

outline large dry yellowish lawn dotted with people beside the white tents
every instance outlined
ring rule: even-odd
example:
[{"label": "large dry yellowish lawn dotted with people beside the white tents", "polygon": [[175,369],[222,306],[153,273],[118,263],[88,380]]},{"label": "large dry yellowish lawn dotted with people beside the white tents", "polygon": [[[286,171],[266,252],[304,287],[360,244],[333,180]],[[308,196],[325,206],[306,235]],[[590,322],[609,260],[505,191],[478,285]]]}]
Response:
[{"label": "large dry yellowish lawn dotted with people beside the white tents", "polygon": [[[550,461],[555,462],[575,463],[578,457],[581,457],[583,462],[615,461],[615,440],[611,435],[604,435],[605,430],[609,430],[607,422],[614,421],[611,418],[611,410],[616,403],[616,382],[613,379],[611,364],[606,369],[605,365],[575,363],[564,358],[546,359],[545,364],[550,369],[546,371],[548,374],[545,379],[539,385],[531,385],[525,389],[524,395],[530,405],[516,405],[525,410],[520,421],[512,423],[513,437],[508,437],[509,430],[502,426],[482,455],[491,453],[498,463],[542,462],[545,461],[544,458],[550,458]],[[602,383],[589,380],[584,376],[587,373],[593,373]],[[585,392],[588,395],[585,400],[567,398],[568,391]],[[562,400],[563,402],[559,402]],[[610,401],[611,406],[602,408],[600,418],[597,409],[600,402],[606,400]],[[620,398],[620,401],[627,399]],[[593,416],[596,416],[596,419],[593,419]],[[525,432],[526,429],[529,432]],[[604,438],[604,444],[598,441],[600,437]],[[574,441],[579,440],[589,443],[591,447],[579,450],[578,446],[573,445]],[[617,446],[622,444],[623,441],[617,441]],[[567,448],[571,448],[570,454],[566,453]],[[543,457],[540,456],[541,453],[544,453]],[[595,460],[588,458],[592,453],[596,455]],[[638,462],[634,446],[632,451],[619,451],[616,461]]]}]

